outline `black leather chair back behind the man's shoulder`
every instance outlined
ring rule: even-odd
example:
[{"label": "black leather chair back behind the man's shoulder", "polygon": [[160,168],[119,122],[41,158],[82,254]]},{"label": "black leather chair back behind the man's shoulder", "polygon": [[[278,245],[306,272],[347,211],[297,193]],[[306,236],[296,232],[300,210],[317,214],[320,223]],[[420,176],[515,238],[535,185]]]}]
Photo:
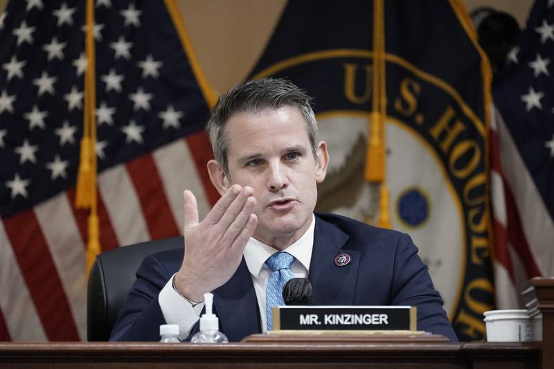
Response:
[{"label": "black leather chair back behind the man's shoulder", "polygon": [[87,339],[109,339],[119,309],[136,280],[136,270],[146,256],[182,247],[183,237],[172,237],[120,247],[98,255],[89,273]]}]

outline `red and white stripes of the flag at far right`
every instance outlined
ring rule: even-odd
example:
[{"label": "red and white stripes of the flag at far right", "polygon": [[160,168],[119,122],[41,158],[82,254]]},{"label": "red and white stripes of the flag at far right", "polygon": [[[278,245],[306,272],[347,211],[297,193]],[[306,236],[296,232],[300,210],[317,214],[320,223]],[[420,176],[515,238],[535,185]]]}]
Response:
[{"label": "red and white stripes of the flag at far right", "polygon": [[554,274],[554,224],[499,111],[490,130],[497,307],[524,307],[521,284]]}]

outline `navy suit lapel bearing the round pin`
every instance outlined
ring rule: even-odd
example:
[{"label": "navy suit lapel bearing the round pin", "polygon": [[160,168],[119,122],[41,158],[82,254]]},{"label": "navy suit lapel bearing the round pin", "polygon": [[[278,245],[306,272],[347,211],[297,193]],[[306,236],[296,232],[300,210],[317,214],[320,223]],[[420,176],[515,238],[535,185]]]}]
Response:
[{"label": "navy suit lapel bearing the round pin", "polygon": [[[314,249],[310,262],[310,282],[314,305],[353,305],[361,253],[343,249],[348,235],[337,226],[316,217]],[[334,259],[346,253],[351,261],[343,267]]]}]

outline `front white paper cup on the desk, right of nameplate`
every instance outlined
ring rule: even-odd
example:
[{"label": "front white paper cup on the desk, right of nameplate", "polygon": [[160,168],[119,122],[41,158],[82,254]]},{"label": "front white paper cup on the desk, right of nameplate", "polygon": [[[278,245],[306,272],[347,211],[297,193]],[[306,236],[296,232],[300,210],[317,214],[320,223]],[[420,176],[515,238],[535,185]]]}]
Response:
[{"label": "front white paper cup on the desk, right of nameplate", "polygon": [[490,310],[483,315],[488,342],[533,341],[527,310]]}]

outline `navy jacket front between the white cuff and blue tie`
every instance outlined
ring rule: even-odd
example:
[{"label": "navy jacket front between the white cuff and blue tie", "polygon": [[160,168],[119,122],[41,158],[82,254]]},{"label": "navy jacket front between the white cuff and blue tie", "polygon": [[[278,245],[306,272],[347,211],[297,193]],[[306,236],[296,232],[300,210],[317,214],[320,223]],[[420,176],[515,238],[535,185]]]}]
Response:
[{"label": "navy jacket front between the white cuff and blue tie", "polygon": [[233,277],[213,291],[213,303],[220,318],[220,331],[229,341],[262,332],[258,299],[244,257]]}]

